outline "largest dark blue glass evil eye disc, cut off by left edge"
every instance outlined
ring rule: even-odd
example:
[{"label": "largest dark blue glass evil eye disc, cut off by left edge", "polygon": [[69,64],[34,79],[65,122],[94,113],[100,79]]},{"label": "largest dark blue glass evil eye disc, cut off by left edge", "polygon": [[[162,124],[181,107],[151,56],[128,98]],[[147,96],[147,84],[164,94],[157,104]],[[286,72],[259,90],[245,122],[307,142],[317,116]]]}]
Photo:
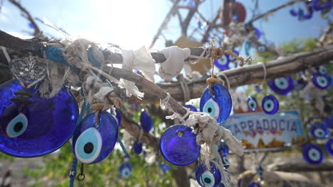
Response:
[{"label": "largest dark blue glass evil eye disc, cut off by left edge", "polygon": [[14,103],[12,98],[22,89],[16,80],[0,86],[0,151],[13,157],[40,157],[73,135],[78,103],[65,86],[53,98],[41,98],[38,86],[31,86],[31,103]]}]

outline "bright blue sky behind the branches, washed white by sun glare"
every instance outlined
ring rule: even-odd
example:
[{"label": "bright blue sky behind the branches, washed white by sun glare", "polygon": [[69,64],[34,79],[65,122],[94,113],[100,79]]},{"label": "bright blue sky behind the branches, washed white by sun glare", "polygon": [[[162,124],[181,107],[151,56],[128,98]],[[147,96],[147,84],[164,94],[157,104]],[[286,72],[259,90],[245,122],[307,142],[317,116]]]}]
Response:
[{"label": "bright blue sky behind the branches, washed white by sun glare", "polygon": [[[189,0],[187,0],[189,1]],[[253,0],[238,0],[247,8],[247,20],[251,18],[250,10]],[[271,8],[285,4],[290,0],[259,0],[259,9],[263,13]],[[199,10],[211,20],[222,4],[222,0],[206,0]],[[186,4],[181,1],[181,4]],[[102,42],[112,42],[127,49],[137,49],[142,45],[149,47],[152,38],[162,23],[164,16],[171,7],[169,0],[118,0],[118,1],[88,1],[88,0],[21,0],[21,4],[38,18],[47,18],[54,25],[65,29],[74,38],[83,37]],[[269,41],[280,45],[294,38],[317,38],[323,28],[327,27],[326,21],[320,18],[319,12],[309,21],[297,21],[290,16],[290,9],[303,7],[296,4],[277,11],[269,17],[269,21],[256,21],[254,26],[262,30]],[[184,14],[184,13],[182,13]],[[180,36],[178,18],[174,17],[164,36],[169,40],[176,40]],[[45,33],[61,38],[53,29],[38,23]],[[196,17],[191,21],[191,27],[197,26]],[[12,34],[27,35],[28,21],[22,18],[20,11],[8,1],[4,1],[0,13],[0,29]],[[158,40],[154,48],[161,50],[164,40]]]}]

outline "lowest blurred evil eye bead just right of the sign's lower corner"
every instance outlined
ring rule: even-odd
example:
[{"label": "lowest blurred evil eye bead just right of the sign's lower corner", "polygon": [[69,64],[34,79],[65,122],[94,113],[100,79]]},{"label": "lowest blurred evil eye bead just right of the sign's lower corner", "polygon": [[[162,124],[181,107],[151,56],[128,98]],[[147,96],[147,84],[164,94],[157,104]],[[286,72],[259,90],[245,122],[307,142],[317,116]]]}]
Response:
[{"label": "lowest blurred evil eye bead just right of the sign's lower corner", "polygon": [[319,146],[307,144],[303,147],[303,158],[309,164],[321,164],[324,159],[324,154]]}]

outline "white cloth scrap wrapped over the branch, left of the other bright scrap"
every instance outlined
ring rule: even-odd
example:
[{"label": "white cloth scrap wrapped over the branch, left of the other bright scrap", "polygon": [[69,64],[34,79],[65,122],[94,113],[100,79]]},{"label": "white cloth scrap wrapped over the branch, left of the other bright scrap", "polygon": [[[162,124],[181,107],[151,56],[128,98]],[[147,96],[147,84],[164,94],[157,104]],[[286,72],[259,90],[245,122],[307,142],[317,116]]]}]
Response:
[{"label": "white cloth scrap wrapped over the branch, left of the other bright scrap", "polygon": [[[136,51],[122,50],[122,69],[127,69],[131,72],[133,69],[139,70],[149,81],[155,82],[155,60],[144,46]],[[137,96],[137,98],[144,96],[144,93],[140,92],[132,81],[120,79],[120,86],[126,89],[127,97],[132,96],[132,94]]]}]

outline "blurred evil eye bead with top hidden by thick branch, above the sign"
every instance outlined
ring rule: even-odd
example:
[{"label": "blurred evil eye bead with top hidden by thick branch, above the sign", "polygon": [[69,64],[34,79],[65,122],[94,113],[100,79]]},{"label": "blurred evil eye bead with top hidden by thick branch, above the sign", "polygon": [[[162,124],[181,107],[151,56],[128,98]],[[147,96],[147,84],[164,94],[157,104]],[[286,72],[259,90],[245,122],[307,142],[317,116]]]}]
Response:
[{"label": "blurred evil eye bead with top hidden by thick branch, above the sign", "polygon": [[268,81],[270,89],[280,95],[287,95],[290,91],[295,88],[294,79],[291,76],[281,77],[278,79],[272,79]]}]

